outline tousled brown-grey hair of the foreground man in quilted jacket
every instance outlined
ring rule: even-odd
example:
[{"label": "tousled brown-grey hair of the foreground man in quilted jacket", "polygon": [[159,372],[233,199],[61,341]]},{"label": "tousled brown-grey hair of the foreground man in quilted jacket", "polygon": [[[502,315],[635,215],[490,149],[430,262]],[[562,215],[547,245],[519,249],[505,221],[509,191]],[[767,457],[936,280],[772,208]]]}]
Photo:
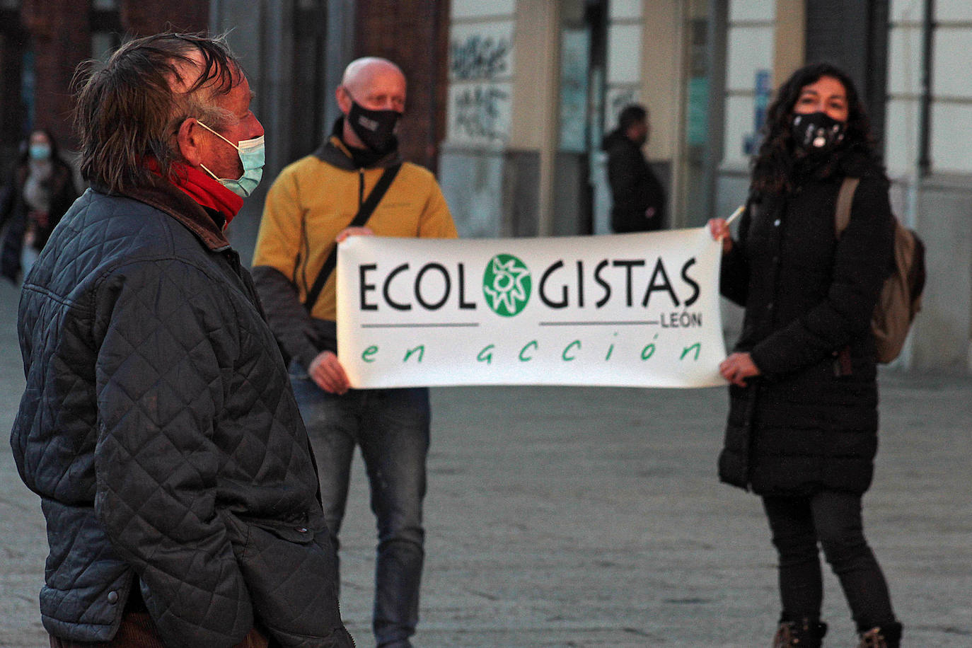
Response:
[{"label": "tousled brown-grey hair of the foreground man in quilted jacket", "polygon": [[107,63],[82,63],[74,81],[82,176],[115,191],[150,185],[146,159],[152,157],[168,178],[182,159],[179,125],[194,117],[222,127],[230,116],[212,100],[240,79],[226,42],[200,34],[147,36],[123,44]]}]

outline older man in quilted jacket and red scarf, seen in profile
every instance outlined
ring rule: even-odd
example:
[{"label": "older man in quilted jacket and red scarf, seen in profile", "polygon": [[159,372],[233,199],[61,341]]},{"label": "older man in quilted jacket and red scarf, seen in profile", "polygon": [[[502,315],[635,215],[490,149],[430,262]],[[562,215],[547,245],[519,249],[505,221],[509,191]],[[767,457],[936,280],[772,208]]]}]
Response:
[{"label": "older man in quilted jacket and red scarf, seen in profile", "polygon": [[89,71],[91,183],[27,276],[12,445],[41,496],[52,646],[351,646],[286,367],[224,229],[263,128],[219,40]]}]

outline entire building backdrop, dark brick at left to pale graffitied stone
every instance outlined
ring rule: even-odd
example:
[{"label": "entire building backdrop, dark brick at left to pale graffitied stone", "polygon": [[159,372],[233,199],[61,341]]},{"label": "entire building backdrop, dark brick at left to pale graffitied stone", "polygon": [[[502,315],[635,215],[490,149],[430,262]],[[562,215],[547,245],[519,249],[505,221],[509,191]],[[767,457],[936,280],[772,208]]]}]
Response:
[{"label": "entire building backdrop, dark brick at left to pale graffitied stone", "polygon": [[[972,373],[972,47],[967,0],[0,0],[0,161],[43,119],[70,148],[70,80],[121,34],[228,34],[256,89],[267,182],[337,117],[353,58],[409,79],[403,152],[433,169],[464,236],[608,231],[601,138],[644,104],[670,227],[727,215],[772,94],[805,62],[849,71],[881,136],[892,203],[928,246],[900,365]],[[733,322],[730,311],[727,321]]]}]

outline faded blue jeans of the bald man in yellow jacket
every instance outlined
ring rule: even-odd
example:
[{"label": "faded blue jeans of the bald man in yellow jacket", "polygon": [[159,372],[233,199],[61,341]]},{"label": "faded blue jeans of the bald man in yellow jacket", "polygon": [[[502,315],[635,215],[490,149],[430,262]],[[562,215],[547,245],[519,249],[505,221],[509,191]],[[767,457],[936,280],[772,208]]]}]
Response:
[{"label": "faded blue jeans of the bald man in yellow jacket", "polygon": [[314,447],[324,515],[335,550],[344,518],[351,461],[359,446],[378,527],[372,630],[381,648],[407,648],[419,618],[425,560],[422,500],[429,454],[429,390],[351,390],[317,387],[291,373],[297,405]]}]

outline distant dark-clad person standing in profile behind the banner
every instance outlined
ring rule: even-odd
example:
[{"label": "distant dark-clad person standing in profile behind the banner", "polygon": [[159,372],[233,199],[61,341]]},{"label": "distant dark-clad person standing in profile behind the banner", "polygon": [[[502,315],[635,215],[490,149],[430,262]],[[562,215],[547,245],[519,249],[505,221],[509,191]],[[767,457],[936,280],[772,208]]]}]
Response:
[{"label": "distant dark-clad person standing in profile behind the banner", "polygon": [[621,110],[617,128],[608,133],[601,145],[608,152],[608,184],[613,201],[610,225],[616,233],[662,228],[665,189],[642,153],[649,132],[648,112],[632,104]]}]

